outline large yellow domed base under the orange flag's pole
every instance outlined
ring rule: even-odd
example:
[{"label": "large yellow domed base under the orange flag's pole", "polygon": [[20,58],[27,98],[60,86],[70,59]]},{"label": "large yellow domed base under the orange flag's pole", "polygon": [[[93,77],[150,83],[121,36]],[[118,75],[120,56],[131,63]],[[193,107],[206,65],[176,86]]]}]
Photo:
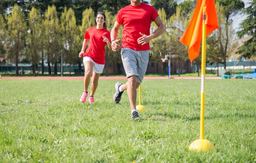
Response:
[{"label": "large yellow domed base under the orange flag's pole", "polygon": [[213,143],[211,143],[210,141],[206,140],[206,139],[197,139],[195,141],[193,141],[193,143],[191,143],[191,145],[189,145],[189,150],[191,151],[214,151],[214,145]]}]

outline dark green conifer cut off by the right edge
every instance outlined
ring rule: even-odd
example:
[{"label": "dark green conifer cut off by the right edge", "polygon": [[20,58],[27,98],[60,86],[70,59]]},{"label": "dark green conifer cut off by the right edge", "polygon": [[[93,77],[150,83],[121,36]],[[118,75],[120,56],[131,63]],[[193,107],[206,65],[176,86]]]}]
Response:
[{"label": "dark green conifer cut off by the right edge", "polygon": [[250,39],[238,48],[237,53],[241,57],[252,58],[256,57],[256,0],[251,0],[243,12],[247,15],[247,18],[240,24],[240,31],[237,32],[238,37],[242,38],[245,35]]}]

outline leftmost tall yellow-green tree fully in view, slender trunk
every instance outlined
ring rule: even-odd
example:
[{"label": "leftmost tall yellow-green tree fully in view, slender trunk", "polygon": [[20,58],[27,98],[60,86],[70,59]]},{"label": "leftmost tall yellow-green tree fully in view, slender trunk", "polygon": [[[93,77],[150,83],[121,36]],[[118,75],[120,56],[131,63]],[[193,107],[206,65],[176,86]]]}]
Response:
[{"label": "leftmost tall yellow-green tree fully in view, slender trunk", "polygon": [[11,62],[15,63],[16,76],[18,76],[18,63],[24,55],[25,35],[27,25],[25,15],[18,5],[14,5],[11,14],[7,16],[7,55]]}]

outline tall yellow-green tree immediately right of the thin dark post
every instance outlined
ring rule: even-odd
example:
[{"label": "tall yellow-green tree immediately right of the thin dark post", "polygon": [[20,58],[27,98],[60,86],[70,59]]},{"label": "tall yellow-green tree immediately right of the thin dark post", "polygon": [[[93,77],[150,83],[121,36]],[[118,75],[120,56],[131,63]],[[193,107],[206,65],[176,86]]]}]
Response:
[{"label": "tall yellow-green tree immediately right of the thin dark post", "polygon": [[77,44],[79,42],[78,28],[73,9],[65,7],[61,14],[61,34],[63,44],[63,54],[65,61],[69,64],[71,76],[71,64],[78,58]]}]

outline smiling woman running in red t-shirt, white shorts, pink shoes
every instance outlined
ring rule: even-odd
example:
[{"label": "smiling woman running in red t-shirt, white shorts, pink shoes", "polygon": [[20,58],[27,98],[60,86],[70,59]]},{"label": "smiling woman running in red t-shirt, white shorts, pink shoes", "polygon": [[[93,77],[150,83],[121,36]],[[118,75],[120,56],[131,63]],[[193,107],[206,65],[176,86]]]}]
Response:
[{"label": "smiling woman running in red t-shirt, white shorts, pink shoes", "polygon": [[[110,40],[110,32],[106,29],[106,15],[101,12],[96,17],[97,26],[90,27],[85,32],[83,47],[79,53],[79,57],[83,55],[83,65],[85,69],[85,76],[83,79],[84,92],[80,98],[80,102],[85,102],[88,96],[88,87],[90,84],[90,78],[92,77],[91,92],[89,96],[89,103],[94,103],[94,93],[98,86],[99,76],[103,72],[105,65],[105,46],[112,50]],[[88,48],[88,40],[90,39]]]}]

